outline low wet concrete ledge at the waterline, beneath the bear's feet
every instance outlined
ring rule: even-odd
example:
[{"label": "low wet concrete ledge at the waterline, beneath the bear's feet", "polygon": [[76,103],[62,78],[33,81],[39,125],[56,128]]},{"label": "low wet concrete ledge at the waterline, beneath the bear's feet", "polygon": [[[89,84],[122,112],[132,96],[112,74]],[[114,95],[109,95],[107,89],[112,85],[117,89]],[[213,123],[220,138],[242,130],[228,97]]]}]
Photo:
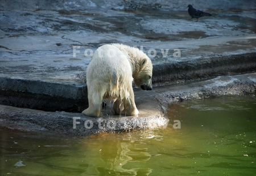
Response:
[{"label": "low wet concrete ledge at the waterline, beneath the bear's feet", "polygon": [[47,112],[0,105],[0,122],[2,127],[16,130],[48,131],[70,135],[164,128],[169,121],[164,114],[171,102],[222,95],[243,95],[255,91],[256,73],[218,76],[186,85],[158,87],[152,92],[136,91],[135,101],[140,111],[138,116],[104,115],[102,118],[92,118],[81,113]]}]

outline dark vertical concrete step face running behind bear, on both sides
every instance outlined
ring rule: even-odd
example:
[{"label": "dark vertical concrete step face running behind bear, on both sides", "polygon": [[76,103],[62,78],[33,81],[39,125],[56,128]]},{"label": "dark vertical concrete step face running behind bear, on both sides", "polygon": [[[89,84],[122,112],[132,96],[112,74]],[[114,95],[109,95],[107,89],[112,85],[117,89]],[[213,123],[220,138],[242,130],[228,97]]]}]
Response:
[{"label": "dark vertical concrete step face running behind bear, on both sides", "polygon": [[[182,83],[256,71],[256,53],[199,58],[154,65],[154,86]],[[81,73],[81,75],[84,75]],[[81,112],[88,106],[87,89],[80,84],[0,78],[0,104],[46,111]]]}]

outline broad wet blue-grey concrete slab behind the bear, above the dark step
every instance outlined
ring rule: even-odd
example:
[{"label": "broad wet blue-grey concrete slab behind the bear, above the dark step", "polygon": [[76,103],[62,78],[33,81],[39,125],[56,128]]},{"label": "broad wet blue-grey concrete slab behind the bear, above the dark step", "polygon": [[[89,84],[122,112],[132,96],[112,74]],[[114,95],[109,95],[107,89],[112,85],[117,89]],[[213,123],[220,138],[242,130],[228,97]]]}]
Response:
[{"label": "broad wet blue-grey concrete slab behind the bear, above the dark step", "polygon": [[254,53],[256,46],[254,10],[218,12],[197,23],[187,11],[1,13],[0,76],[7,78],[81,84],[76,78],[90,51],[111,42],[138,46],[154,65]]}]

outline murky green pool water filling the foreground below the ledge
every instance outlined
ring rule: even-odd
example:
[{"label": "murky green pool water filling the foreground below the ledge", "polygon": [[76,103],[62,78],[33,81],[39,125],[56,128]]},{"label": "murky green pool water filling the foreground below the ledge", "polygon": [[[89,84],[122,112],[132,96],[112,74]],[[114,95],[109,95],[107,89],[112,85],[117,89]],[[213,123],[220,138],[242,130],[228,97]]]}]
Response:
[{"label": "murky green pool water filling the foreground below the ledge", "polygon": [[0,175],[255,175],[254,95],[169,108],[170,124],[158,130],[77,137],[1,128]]}]

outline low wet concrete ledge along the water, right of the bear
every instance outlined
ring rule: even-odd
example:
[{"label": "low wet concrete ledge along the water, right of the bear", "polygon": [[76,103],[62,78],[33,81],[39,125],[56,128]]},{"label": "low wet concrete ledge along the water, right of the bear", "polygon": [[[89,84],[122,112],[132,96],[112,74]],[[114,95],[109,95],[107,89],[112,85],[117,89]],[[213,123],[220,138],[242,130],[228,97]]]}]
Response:
[{"label": "low wet concrete ledge along the water, right of the bear", "polygon": [[214,79],[159,88],[156,96],[163,104],[175,101],[198,100],[202,98],[243,95],[256,92],[256,73],[218,76]]}]

